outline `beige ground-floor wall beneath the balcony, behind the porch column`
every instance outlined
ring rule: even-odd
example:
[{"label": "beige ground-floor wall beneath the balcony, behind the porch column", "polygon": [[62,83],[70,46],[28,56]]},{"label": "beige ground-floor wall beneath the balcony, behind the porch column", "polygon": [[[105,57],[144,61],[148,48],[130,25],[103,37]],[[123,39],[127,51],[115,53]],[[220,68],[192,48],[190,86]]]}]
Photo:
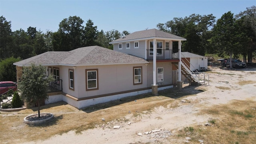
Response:
[{"label": "beige ground-floor wall beneath the balcony, behind the porch column", "polygon": [[[172,84],[172,62],[157,62],[157,68],[164,68],[164,81],[158,82],[160,85]],[[156,72],[157,78],[157,72]],[[148,87],[153,84],[153,63],[148,64]]]}]

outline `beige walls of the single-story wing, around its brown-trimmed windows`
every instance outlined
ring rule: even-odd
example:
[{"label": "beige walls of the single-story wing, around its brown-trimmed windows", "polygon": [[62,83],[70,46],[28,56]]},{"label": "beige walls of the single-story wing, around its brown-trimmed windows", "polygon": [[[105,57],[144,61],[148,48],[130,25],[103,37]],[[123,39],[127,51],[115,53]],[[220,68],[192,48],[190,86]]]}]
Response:
[{"label": "beige walls of the single-story wing, around its brown-trimmed windows", "polygon": [[[142,84],[133,84],[133,67],[142,66]],[[68,68],[66,68],[68,69]],[[86,91],[86,69],[98,69],[98,90]],[[105,66],[78,66],[74,70],[75,91],[68,89],[68,71],[66,75],[65,93],[76,98],[97,96],[134,90],[147,87],[147,66],[145,64],[105,65]],[[64,84],[63,84],[64,85]],[[64,92],[64,88],[63,88]]]}]

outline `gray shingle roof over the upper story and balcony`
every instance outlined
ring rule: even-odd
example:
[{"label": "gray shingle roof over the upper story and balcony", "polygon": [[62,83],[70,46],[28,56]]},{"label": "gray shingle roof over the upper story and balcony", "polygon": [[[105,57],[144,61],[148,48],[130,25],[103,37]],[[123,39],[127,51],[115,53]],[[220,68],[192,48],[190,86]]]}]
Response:
[{"label": "gray shingle roof over the upper story and balcony", "polygon": [[142,39],[142,38],[152,38],[152,37],[158,37],[158,38],[170,38],[170,39],[183,39],[180,36],[176,36],[174,34],[170,34],[168,32],[163,32],[161,30],[157,29],[150,29],[150,30],[142,30],[138,32],[133,32],[131,34],[126,35],[124,38],[118,38],[110,43],[115,42],[122,42],[122,41],[128,41],[128,40],[136,40],[136,39]]}]

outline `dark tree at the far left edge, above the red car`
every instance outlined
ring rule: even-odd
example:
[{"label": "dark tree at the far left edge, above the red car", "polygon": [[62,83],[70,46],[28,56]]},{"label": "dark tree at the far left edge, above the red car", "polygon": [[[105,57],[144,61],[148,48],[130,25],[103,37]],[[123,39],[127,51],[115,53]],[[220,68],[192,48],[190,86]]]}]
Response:
[{"label": "dark tree at the far left edge, above the red car", "polygon": [[1,16],[0,17],[0,57],[2,60],[11,56],[12,52],[10,51],[10,44],[12,43],[12,30],[11,30],[11,21],[7,20]]}]

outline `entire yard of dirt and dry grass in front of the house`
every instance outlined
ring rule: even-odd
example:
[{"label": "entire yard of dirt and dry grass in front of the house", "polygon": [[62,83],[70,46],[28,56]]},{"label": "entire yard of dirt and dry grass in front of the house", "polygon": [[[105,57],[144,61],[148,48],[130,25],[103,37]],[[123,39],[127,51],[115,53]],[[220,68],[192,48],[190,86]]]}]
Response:
[{"label": "entire yard of dirt and dry grass in front of the house", "polygon": [[[78,110],[42,106],[47,124],[23,118],[36,108],[1,112],[1,144],[255,144],[256,66],[211,66],[207,86],[143,94]],[[114,127],[117,128],[114,128]]]}]

